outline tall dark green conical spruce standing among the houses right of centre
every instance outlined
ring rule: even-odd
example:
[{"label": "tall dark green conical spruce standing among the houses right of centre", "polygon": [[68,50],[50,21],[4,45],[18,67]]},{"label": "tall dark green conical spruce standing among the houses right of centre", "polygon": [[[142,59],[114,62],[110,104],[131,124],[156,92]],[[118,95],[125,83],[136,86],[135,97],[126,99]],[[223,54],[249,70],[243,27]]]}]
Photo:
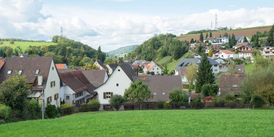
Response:
[{"label": "tall dark green conical spruce standing among the houses right of centre", "polygon": [[201,63],[199,63],[197,78],[195,82],[195,92],[201,93],[201,88],[204,84],[212,84],[214,82],[214,74],[206,54],[202,56]]}]

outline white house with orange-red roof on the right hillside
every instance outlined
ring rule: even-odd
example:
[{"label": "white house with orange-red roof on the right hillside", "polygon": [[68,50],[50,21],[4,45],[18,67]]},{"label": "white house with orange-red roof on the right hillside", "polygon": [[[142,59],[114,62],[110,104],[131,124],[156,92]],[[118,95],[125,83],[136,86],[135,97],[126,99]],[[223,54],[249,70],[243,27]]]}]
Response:
[{"label": "white house with orange-red roof on the right hillside", "polygon": [[239,58],[239,54],[235,54],[234,52],[230,50],[217,50],[213,52],[213,57],[219,57],[223,59],[229,59],[229,58],[235,59],[235,58]]}]

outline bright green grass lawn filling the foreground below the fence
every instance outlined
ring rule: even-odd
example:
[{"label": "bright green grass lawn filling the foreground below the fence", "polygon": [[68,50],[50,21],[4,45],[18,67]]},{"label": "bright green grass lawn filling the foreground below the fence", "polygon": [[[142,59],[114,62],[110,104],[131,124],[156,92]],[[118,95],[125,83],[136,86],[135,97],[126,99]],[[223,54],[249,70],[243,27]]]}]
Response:
[{"label": "bright green grass lawn filling the foreground below the fence", "polygon": [[273,110],[82,113],[0,125],[0,136],[273,136]]}]

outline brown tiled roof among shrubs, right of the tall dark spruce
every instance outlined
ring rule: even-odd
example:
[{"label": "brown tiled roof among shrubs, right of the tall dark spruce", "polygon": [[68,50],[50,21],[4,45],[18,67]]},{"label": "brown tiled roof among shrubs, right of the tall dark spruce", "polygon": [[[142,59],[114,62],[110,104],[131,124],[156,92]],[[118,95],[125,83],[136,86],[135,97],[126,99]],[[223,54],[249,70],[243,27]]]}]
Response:
[{"label": "brown tiled roof among shrubs, right of the tall dark spruce", "polygon": [[241,92],[240,85],[244,78],[245,74],[221,74],[219,79],[221,96],[228,93],[239,95]]}]

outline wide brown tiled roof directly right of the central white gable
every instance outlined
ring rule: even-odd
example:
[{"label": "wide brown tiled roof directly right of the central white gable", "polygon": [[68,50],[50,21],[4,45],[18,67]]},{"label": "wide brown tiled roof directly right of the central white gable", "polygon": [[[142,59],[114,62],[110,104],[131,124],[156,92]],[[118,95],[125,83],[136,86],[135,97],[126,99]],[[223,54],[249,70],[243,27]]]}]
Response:
[{"label": "wide brown tiled roof directly right of the central white gable", "polygon": [[159,100],[170,100],[168,94],[175,88],[183,89],[181,76],[133,76],[134,81],[142,79],[151,91],[153,98],[148,102],[157,102]]}]

